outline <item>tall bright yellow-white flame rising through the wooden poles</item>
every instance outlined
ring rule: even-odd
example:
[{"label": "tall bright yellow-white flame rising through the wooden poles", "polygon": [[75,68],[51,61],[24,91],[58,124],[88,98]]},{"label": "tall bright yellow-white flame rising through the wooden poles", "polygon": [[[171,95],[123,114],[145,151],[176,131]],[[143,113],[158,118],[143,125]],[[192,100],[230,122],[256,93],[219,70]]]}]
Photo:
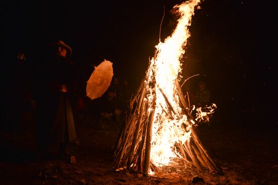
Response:
[{"label": "tall bright yellow-white flame rising through the wooden poles", "polygon": [[[185,52],[187,39],[190,37],[189,26],[194,9],[199,3],[200,0],[193,0],[174,7],[180,15],[177,26],[171,36],[156,45],[157,56],[151,59],[147,71],[145,83],[147,88],[151,89],[147,96],[150,104],[149,111],[154,108],[152,100],[155,98],[150,159],[156,166],[169,165],[171,159],[181,158],[175,146],[179,143],[184,144],[191,137],[190,125],[187,125],[187,130],[182,128],[182,124],[189,118],[181,113],[174,81],[179,78],[181,72],[180,60]],[[152,83],[154,81],[155,83]],[[155,87],[152,84],[155,84]],[[170,110],[169,104],[172,107]],[[203,117],[201,114],[200,118]]]}]

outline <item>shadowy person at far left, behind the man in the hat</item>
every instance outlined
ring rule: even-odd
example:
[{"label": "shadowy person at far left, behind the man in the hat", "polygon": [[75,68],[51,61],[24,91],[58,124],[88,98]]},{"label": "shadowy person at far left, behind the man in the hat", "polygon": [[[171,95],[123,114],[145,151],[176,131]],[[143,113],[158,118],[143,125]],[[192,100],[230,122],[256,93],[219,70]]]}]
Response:
[{"label": "shadowy person at far left, behind the man in the hat", "polygon": [[[4,91],[4,129],[17,136],[32,121],[35,101],[32,98],[32,70],[23,53],[18,53],[9,63]],[[29,126],[29,125],[28,125]]]}]

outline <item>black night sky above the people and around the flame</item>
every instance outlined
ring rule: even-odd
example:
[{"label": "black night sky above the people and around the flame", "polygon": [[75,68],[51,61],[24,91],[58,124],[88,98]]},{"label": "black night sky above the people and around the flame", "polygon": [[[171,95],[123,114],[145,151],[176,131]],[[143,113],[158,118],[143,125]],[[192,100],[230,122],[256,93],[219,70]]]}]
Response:
[{"label": "black night sky above the people and around the flame", "polygon": [[[2,80],[18,52],[39,63],[48,43],[61,39],[89,78],[93,65],[113,62],[114,75],[136,89],[160,38],[175,27],[171,14],[182,1],[14,1],[1,4]],[[195,11],[184,56],[184,90],[207,82],[220,113],[239,119],[254,113],[277,124],[274,5],[267,1],[205,0]],[[183,79],[183,80],[184,80]],[[272,119],[273,117],[273,119]]]}]

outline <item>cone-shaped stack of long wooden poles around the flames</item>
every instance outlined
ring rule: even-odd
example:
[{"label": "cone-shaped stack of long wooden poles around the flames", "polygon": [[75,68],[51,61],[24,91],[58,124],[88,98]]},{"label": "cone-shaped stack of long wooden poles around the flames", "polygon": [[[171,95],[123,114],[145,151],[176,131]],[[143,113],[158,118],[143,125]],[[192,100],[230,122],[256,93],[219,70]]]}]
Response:
[{"label": "cone-shaped stack of long wooden poles around the flames", "polygon": [[[176,151],[182,156],[181,160],[184,168],[195,166],[198,171],[204,169],[212,173],[221,174],[221,170],[209,156],[207,150],[200,141],[199,136],[190,121],[190,109],[188,101],[184,99],[178,80],[175,80],[175,91],[178,94],[181,106],[181,112],[177,113],[173,110],[172,105],[168,101],[164,92],[156,84],[154,70],[149,66],[145,79],[141,82],[136,94],[130,101],[130,114],[126,120],[126,124],[119,134],[117,144],[114,150],[114,159],[116,168],[132,169],[137,172],[149,174],[150,168],[156,171],[156,167],[150,160],[151,141],[152,141],[152,124],[154,121],[154,113],[156,109],[156,95],[161,93],[167,102],[168,110],[164,110],[169,114],[187,115],[188,121],[182,124],[184,132],[191,131],[190,140],[185,143],[176,143]],[[158,87],[158,88],[155,88]],[[157,92],[156,92],[156,90]],[[150,95],[152,98],[150,99]],[[194,169],[196,169],[194,168]]]}]

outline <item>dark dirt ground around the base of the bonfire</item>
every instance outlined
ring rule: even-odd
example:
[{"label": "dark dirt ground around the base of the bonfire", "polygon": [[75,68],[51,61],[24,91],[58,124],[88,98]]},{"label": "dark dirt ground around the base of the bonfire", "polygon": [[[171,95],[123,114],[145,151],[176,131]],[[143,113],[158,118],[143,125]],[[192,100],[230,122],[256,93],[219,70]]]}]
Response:
[{"label": "dark dirt ground around the base of the bonfire", "polygon": [[22,129],[16,137],[1,133],[0,184],[278,184],[277,124],[256,118],[233,123],[216,115],[210,125],[201,125],[197,131],[223,175],[182,168],[145,176],[115,171],[113,146],[121,125],[105,123],[76,121],[79,145],[71,146],[75,163],[56,158],[38,161],[35,126]]}]

